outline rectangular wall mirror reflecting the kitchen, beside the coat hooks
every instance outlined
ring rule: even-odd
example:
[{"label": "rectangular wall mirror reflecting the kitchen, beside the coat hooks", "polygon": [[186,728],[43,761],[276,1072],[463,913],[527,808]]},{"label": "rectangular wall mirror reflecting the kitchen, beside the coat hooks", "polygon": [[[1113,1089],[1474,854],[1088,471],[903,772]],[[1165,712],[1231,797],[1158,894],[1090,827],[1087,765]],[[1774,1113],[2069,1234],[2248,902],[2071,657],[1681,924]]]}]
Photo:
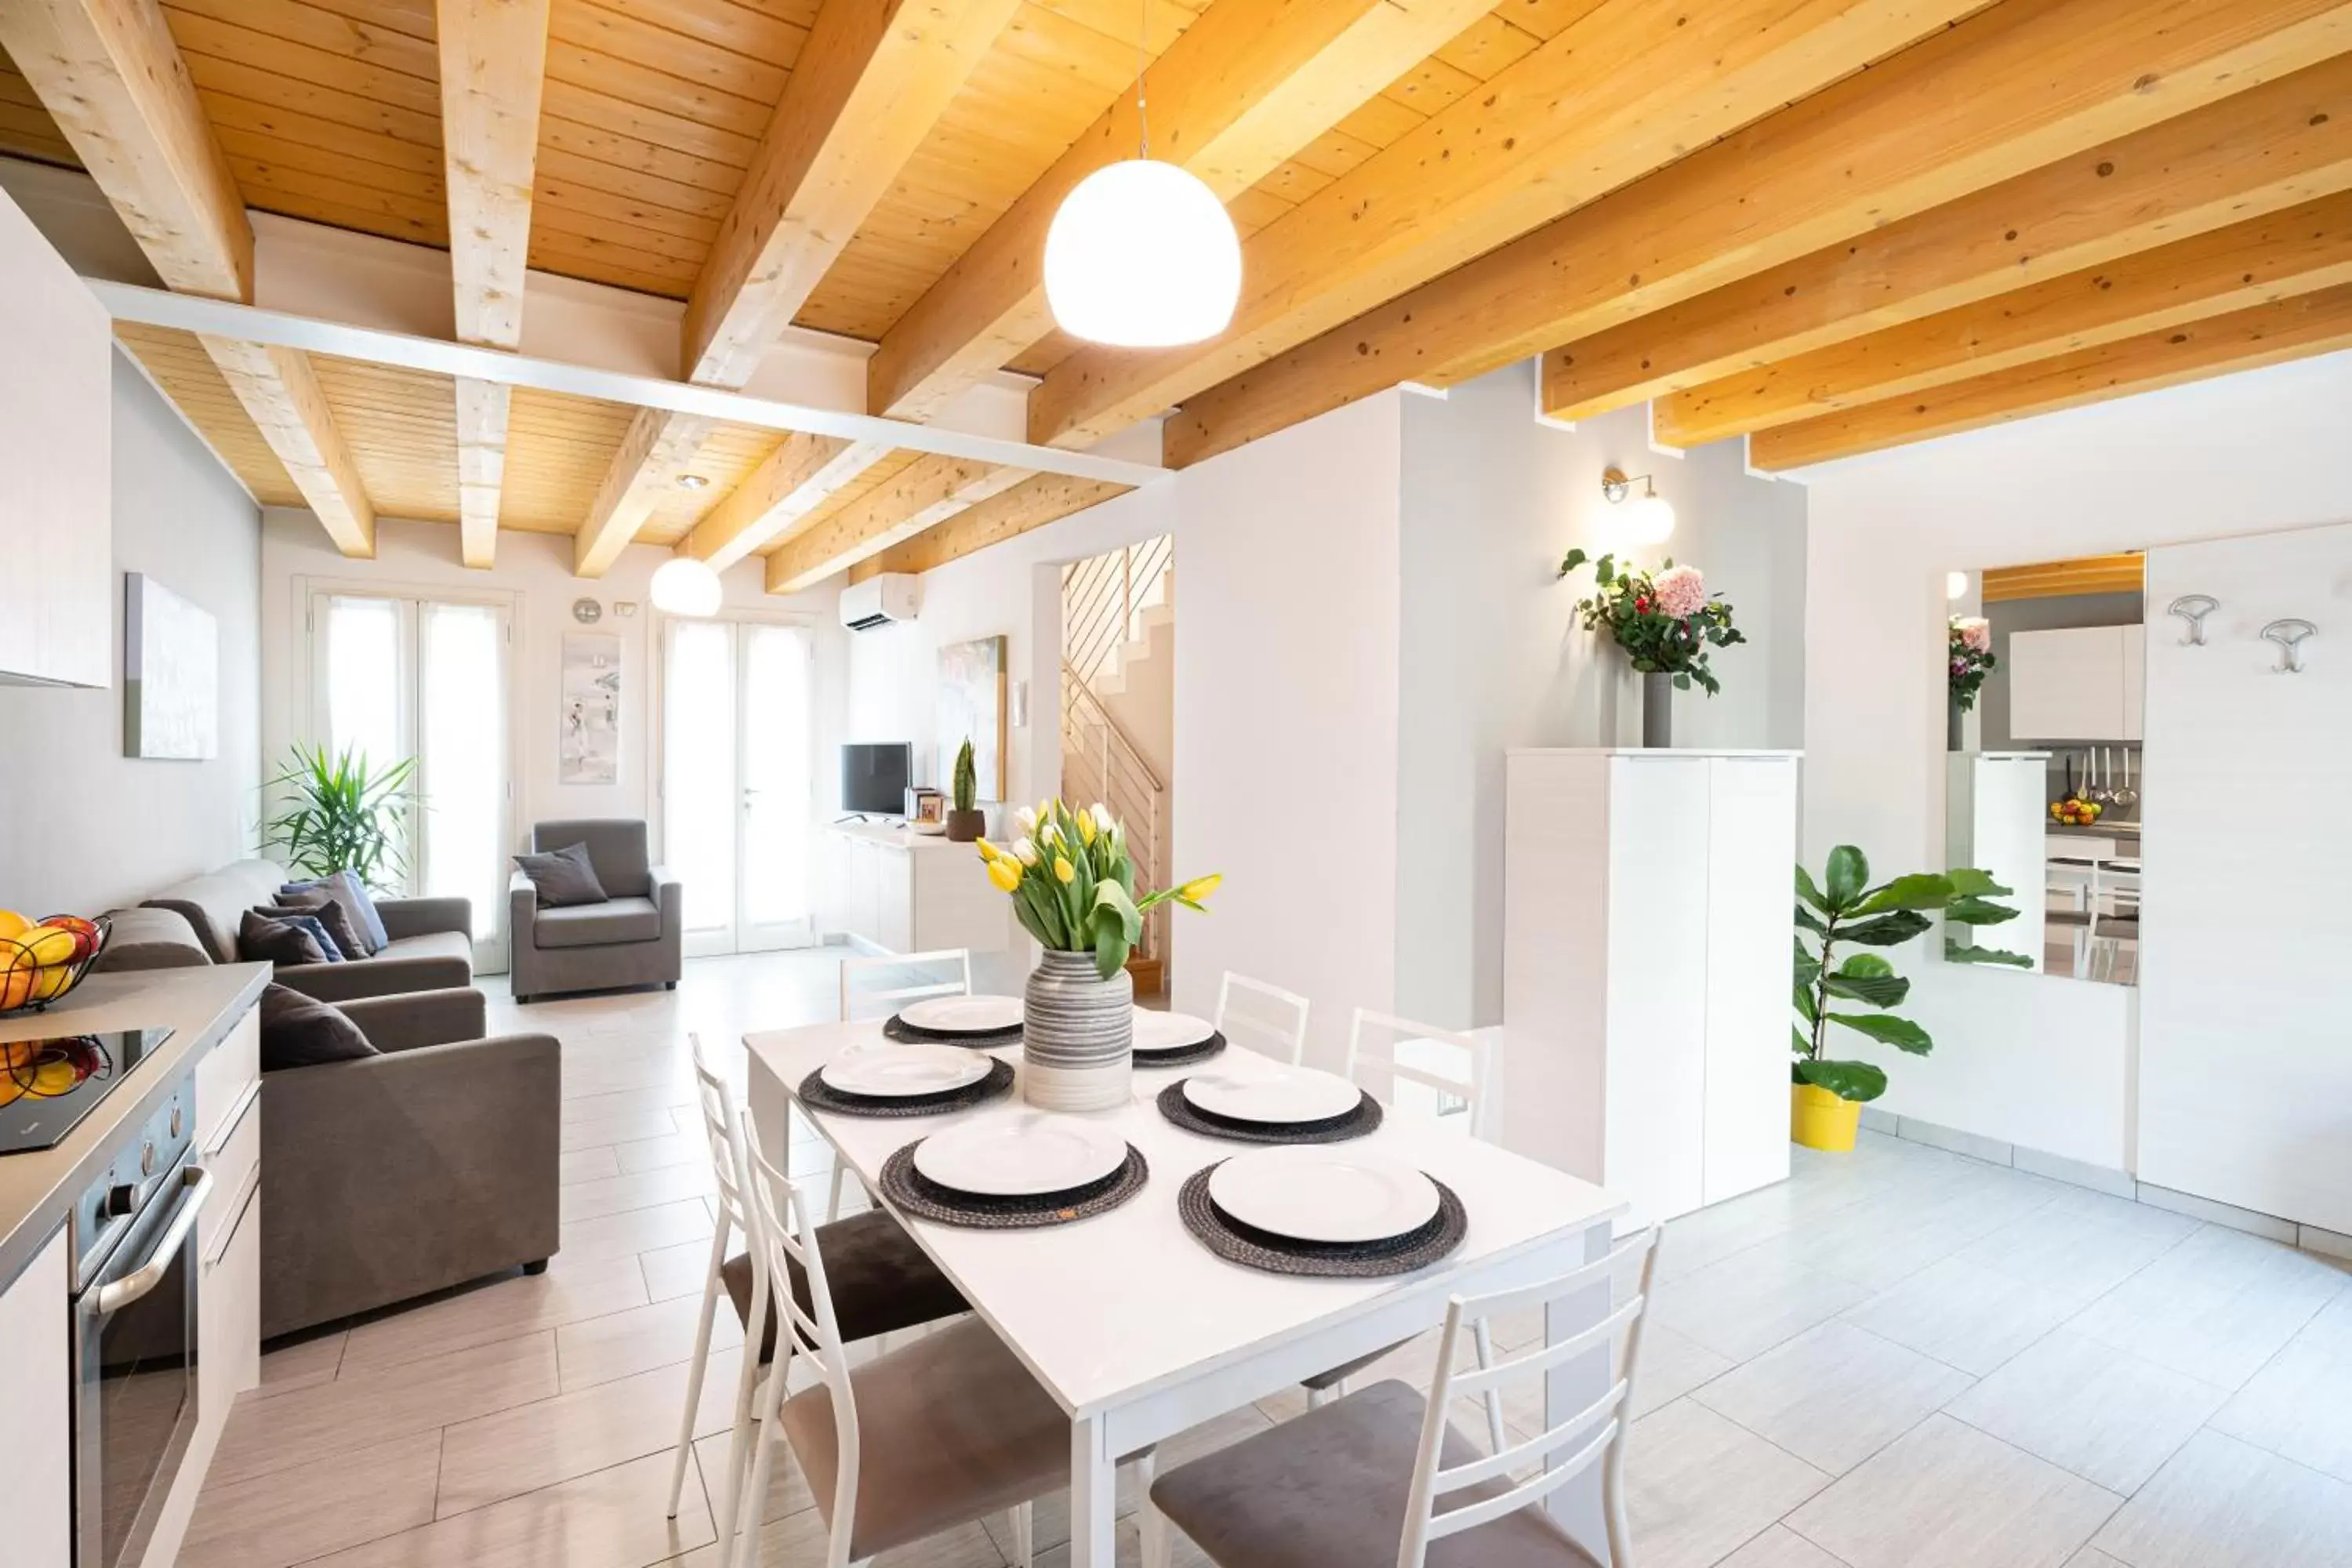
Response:
[{"label": "rectangular wall mirror reflecting the kitchen, beside the coat hooks", "polygon": [[1952,926],[1952,957],[2138,985],[2145,581],[2145,555],[1947,576],[1947,865],[1992,872],[2018,907]]}]

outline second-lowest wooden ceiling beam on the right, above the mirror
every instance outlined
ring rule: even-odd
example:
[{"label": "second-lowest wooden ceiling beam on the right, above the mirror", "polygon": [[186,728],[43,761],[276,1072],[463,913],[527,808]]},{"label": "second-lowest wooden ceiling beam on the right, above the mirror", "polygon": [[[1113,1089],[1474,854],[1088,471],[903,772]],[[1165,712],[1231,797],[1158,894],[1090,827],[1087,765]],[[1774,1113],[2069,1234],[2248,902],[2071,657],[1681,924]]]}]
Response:
[{"label": "second-lowest wooden ceiling beam on the right, above the mirror", "polygon": [[1677,393],[1658,404],[1656,437],[1700,447],[2345,282],[2352,193]]}]

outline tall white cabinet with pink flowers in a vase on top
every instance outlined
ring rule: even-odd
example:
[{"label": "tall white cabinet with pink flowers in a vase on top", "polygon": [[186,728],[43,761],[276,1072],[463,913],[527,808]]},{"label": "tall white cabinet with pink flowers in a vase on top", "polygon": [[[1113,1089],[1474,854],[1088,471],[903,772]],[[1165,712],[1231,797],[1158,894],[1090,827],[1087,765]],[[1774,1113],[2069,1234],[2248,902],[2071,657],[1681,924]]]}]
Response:
[{"label": "tall white cabinet with pink flowers in a vase on top", "polygon": [[1508,757],[1503,1143],[1635,1222],[1788,1178],[1797,762]]}]

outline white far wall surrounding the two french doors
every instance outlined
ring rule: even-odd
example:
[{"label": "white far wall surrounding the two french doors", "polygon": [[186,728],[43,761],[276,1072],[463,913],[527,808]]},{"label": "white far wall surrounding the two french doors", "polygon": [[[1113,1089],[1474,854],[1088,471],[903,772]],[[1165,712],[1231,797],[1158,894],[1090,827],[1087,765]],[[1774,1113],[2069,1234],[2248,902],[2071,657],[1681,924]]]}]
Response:
[{"label": "white far wall surrounding the two french doors", "polygon": [[[308,510],[268,508],[261,529],[261,752],[278,759],[287,745],[308,738],[310,649],[303,632],[308,595],[320,588],[355,585],[369,592],[461,592],[503,597],[515,616],[515,844],[532,823],[567,816],[644,816],[656,811],[656,743],[652,656],[659,651],[661,616],[647,597],[654,567],[670,557],[654,545],[630,545],[602,578],[572,576],[569,534],[499,534],[496,567],[473,571],[456,557],[456,527],[437,522],[379,520],[376,559],[348,559],[334,550]],[[804,616],[816,630],[816,804],[823,816],[840,799],[840,696],[847,684],[847,632],[830,588],[793,597],[769,597],[760,559],[724,574],[727,611],[753,616]],[[574,599],[595,599],[604,618],[581,628]],[[616,604],[635,604],[619,616]],[[557,733],[564,632],[597,630],[621,637],[621,778],[614,785],[567,785],[557,780]],[[659,849],[656,849],[659,853]]]}]

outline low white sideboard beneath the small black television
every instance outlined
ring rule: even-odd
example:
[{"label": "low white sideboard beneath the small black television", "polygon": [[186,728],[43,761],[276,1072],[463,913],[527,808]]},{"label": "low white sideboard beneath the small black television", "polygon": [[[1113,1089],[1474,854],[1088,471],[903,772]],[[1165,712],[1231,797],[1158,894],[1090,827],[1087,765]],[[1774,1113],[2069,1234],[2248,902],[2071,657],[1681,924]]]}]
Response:
[{"label": "low white sideboard beneath the small black television", "polygon": [[818,875],[826,929],[868,947],[1002,952],[1011,943],[1011,900],[971,844],[840,823],[818,835]]}]

